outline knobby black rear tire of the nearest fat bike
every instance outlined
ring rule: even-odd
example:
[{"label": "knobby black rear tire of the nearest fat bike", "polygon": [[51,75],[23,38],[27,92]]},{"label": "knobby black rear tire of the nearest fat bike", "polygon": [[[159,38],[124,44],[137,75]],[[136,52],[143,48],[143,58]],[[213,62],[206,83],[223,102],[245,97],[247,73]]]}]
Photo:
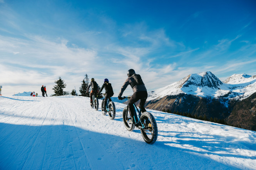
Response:
[{"label": "knobby black rear tire of the nearest fat bike", "polygon": [[150,113],[150,112],[143,112],[141,114],[141,121],[142,124],[144,123],[144,118],[147,118],[152,125],[152,137],[151,139],[149,139],[149,137],[147,136],[145,129],[141,129],[141,135],[143,137],[143,139],[145,140],[145,142],[147,144],[154,144],[157,140],[157,135],[158,135],[158,129],[157,129],[157,124],[156,124],[156,120],[154,118],[154,116]]}]

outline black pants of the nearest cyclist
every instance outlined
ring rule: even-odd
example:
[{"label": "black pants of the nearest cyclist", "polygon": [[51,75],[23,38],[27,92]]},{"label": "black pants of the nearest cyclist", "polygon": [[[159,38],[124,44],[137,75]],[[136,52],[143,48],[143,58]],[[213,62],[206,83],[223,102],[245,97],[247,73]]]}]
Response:
[{"label": "black pants of the nearest cyclist", "polygon": [[139,100],[141,100],[140,102],[140,108],[141,108],[141,112],[146,112],[146,109],[144,108],[144,105],[146,103],[146,99],[147,99],[147,91],[138,91],[135,92],[134,94],[132,94],[128,106],[129,106],[129,111],[132,117],[132,120],[134,120],[134,106],[133,104]]}]

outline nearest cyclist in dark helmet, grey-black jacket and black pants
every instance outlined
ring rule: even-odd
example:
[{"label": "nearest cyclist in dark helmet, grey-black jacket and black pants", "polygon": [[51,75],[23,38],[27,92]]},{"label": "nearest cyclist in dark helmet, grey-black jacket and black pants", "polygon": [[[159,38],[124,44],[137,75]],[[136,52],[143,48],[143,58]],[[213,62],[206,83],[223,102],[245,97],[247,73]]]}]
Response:
[{"label": "nearest cyclist in dark helmet, grey-black jacket and black pants", "polygon": [[126,87],[130,84],[133,90],[133,94],[129,100],[128,106],[129,106],[129,111],[131,115],[131,120],[129,123],[135,124],[134,121],[134,106],[133,104],[139,100],[140,102],[140,107],[142,112],[146,112],[146,109],[144,108],[146,99],[147,99],[147,89],[145,87],[145,84],[143,83],[141,76],[139,74],[136,74],[134,69],[129,69],[127,71],[127,76],[128,78],[125,80],[123,86],[121,87],[121,90],[118,95],[118,99],[122,100],[122,94],[125,91]]}]

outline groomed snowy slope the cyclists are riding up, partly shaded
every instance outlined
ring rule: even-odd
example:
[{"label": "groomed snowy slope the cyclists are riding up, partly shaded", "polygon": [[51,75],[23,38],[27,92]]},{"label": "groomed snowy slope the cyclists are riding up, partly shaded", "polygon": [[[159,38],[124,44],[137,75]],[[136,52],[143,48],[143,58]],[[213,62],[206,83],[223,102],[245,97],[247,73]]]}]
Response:
[{"label": "groomed snowy slope the cyclists are riding up, partly shaded", "polygon": [[[99,101],[101,103],[101,100]],[[149,110],[149,145],[88,97],[0,97],[0,169],[256,169],[256,132]]]}]

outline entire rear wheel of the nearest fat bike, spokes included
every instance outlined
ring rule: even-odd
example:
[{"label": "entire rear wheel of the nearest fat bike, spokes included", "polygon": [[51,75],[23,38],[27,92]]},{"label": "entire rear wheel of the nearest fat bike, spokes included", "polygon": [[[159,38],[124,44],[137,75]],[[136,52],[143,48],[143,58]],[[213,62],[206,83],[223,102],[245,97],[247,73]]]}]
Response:
[{"label": "entire rear wheel of the nearest fat bike, spokes included", "polygon": [[143,139],[148,144],[154,144],[158,135],[157,124],[154,116],[149,112],[142,113],[141,123],[145,126],[141,129]]}]

